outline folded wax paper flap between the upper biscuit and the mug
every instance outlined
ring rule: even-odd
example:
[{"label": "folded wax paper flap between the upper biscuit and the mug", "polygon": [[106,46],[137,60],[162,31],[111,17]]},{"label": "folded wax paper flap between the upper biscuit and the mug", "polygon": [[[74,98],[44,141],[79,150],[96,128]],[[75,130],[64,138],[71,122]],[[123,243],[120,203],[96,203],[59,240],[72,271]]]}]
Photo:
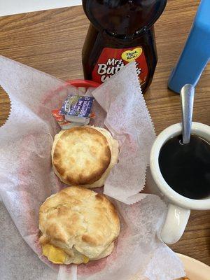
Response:
[{"label": "folded wax paper flap between the upper biscuit and the mug", "polygon": [[104,193],[132,204],[145,195],[146,168],[155,130],[141,93],[135,63],[110,78],[92,95],[106,111],[104,125],[120,143],[118,165],[113,167],[104,185]]}]

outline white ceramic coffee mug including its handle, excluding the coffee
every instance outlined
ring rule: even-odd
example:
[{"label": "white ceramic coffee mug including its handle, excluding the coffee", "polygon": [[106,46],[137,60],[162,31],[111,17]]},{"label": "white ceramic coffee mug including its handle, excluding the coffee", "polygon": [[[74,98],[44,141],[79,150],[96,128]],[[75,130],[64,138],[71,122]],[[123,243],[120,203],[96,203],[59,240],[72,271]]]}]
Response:
[{"label": "white ceramic coffee mug including its handle, excluding the coffee", "polygon": [[[165,224],[160,232],[160,238],[167,244],[176,243],[186,228],[190,209],[205,210],[210,209],[210,196],[202,200],[192,200],[176,193],[167,184],[160,172],[159,154],[162,146],[171,138],[181,134],[182,125],[176,123],[163,130],[155,139],[151,149],[150,168],[155,186],[168,204],[168,212]],[[210,127],[202,123],[193,123],[191,134],[197,135],[210,143]],[[210,186],[209,186],[210,188]]]}]

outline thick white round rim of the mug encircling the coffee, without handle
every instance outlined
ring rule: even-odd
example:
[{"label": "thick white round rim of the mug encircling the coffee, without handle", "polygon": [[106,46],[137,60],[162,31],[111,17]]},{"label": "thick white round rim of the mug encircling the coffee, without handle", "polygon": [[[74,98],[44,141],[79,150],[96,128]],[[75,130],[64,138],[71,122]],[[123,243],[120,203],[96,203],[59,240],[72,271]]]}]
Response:
[{"label": "thick white round rim of the mug encircling the coffee, without handle", "polygon": [[[160,166],[159,166],[160,149],[168,139],[175,137],[176,135],[179,135],[181,131],[182,131],[181,123],[176,123],[175,125],[171,125],[167,127],[165,130],[163,130],[155,139],[150,155],[151,174],[160,192],[163,195],[165,195],[174,204],[181,206],[185,209],[208,210],[210,209],[210,197],[204,198],[202,200],[193,200],[191,198],[184,197],[183,195],[176,193],[176,191],[173,190],[167,184],[167,182],[162,176],[162,173],[160,172]],[[206,140],[210,141],[209,125],[193,122],[192,132],[200,137],[204,137],[203,134],[208,135],[209,138]]]}]

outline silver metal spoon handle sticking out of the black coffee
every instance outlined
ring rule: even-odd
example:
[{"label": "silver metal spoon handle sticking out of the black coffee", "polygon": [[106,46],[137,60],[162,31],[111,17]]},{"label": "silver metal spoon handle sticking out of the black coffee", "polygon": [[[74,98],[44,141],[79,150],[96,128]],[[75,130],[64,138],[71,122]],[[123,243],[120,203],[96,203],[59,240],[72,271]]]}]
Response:
[{"label": "silver metal spoon handle sticking out of the black coffee", "polygon": [[193,118],[195,87],[193,85],[184,85],[181,89],[181,112],[182,112],[182,137],[183,144],[190,142],[191,125]]}]

